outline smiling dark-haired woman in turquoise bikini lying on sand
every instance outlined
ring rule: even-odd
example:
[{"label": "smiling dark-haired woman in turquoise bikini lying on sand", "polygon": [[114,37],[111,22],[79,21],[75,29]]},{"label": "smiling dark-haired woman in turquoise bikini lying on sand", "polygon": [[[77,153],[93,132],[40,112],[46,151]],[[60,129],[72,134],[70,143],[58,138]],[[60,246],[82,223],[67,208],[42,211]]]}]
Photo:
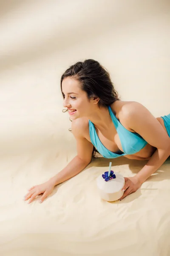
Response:
[{"label": "smiling dark-haired woman in turquoise bikini lying on sand", "polygon": [[138,102],[121,101],[98,61],[88,59],[69,67],[61,77],[61,90],[77,140],[77,156],[50,180],[31,187],[25,196],[28,203],[41,194],[42,203],[54,186],[81,172],[96,149],[106,158],[148,160],[134,177],[125,177],[120,200],[139,189],[169,157],[170,114],[155,118]]}]

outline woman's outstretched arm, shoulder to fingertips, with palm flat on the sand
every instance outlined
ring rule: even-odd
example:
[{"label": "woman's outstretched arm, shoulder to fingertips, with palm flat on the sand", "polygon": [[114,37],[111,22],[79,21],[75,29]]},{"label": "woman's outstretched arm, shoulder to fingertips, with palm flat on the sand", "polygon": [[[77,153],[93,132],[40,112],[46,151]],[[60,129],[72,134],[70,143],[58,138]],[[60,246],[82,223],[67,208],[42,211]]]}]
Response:
[{"label": "woman's outstretched arm, shoulder to fingertips, with palm flat on the sand", "polygon": [[25,201],[30,199],[28,203],[31,203],[37,195],[42,194],[40,197],[40,203],[42,203],[51,194],[54,186],[74,177],[91,162],[93,145],[84,137],[85,125],[87,125],[87,122],[84,124],[81,119],[72,122],[72,132],[77,140],[77,156],[57,175],[45,183],[31,187],[24,198]]}]

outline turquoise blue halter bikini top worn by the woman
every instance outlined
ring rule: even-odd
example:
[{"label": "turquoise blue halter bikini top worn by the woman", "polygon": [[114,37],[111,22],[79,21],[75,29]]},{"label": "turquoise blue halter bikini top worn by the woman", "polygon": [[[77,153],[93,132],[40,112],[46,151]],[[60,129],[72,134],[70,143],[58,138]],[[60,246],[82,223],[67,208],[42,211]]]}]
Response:
[{"label": "turquoise blue halter bikini top worn by the woman", "polygon": [[108,111],[119,135],[123,152],[121,151],[122,153],[117,154],[105,148],[105,146],[99,140],[94,124],[89,120],[88,122],[91,143],[95,146],[99,153],[105,158],[116,158],[127,154],[135,154],[144,148],[147,142],[139,134],[128,131],[113,114],[110,106],[108,107]]}]

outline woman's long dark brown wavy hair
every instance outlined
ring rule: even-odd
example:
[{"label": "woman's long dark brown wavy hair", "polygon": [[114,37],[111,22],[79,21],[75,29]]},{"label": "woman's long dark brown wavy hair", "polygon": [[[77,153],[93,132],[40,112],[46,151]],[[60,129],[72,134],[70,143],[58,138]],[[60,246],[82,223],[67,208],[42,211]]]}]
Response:
[{"label": "woman's long dark brown wavy hair", "polygon": [[[61,92],[62,81],[69,76],[74,77],[74,79],[80,82],[81,89],[87,93],[88,99],[94,96],[99,98],[99,107],[108,107],[116,100],[119,100],[118,93],[114,88],[109,72],[98,61],[93,59],[78,61],[65,70],[61,76]],[[67,110],[63,110],[63,112],[66,111]],[[69,129],[69,131],[71,131],[71,129]],[[95,157],[96,152],[98,151],[94,147],[93,157]]]}]

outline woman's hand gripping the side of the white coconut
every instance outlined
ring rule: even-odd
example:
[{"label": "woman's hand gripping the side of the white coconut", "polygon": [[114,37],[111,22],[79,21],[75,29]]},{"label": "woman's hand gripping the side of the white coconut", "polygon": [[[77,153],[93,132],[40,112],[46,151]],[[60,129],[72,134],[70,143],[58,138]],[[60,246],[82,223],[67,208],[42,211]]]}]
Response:
[{"label": "woman's hand gripping the side of the white coconut", "polygon": [[130,194],[136,192],[136,190],[138,190],[141,185],[142,185],[142,183],[138,180],[138,178],[136,176],[129,177],[129,178],[125,177],[125,185],[122,188],[122,191],[125,191],[125,192],[122,195],[122,197],[119,199],[119,201],[121,201],[127,195],[130,195]]}]

